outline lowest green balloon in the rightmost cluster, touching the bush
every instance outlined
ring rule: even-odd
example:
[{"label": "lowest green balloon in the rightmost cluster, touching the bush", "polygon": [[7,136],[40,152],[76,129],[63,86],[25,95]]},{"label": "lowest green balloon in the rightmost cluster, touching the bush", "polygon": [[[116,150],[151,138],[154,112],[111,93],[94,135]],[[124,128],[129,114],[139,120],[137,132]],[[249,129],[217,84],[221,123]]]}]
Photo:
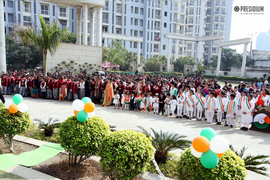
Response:
[{"label": "lowest green balloon in the rightmost cluster, touching the bush", "polygon": [[218,155],[210,149],[203,152],[201,155],[201,164],[207,169],[216,167],[218,165]]}]

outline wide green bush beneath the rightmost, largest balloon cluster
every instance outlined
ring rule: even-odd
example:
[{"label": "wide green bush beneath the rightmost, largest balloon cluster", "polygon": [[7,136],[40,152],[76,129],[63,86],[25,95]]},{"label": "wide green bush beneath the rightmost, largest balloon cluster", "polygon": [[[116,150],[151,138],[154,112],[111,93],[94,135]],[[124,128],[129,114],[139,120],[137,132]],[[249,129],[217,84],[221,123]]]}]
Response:
[{"label": "wide green bush beneath the rightmost, largest balloon cluster", "polygon": [[232,150],[227,150],[219,158],[217,167],[207,169],[201,164],[200,158],[196,158],[190,152],[190,148],[181,154],[178,169],[178,179],[188,180],[243,180],[247,179],[245,164]]}]

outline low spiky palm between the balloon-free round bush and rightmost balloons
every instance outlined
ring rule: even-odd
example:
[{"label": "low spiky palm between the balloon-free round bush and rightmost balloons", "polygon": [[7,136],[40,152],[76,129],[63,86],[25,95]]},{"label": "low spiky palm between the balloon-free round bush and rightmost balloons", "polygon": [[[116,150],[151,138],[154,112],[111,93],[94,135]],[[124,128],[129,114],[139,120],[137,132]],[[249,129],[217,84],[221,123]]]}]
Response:
[{"label": "low spiky palm between the balloon-free round bush and rightmost balloons", "polygon": [[152,145],[156,149],[154,154],[154,158],[157,163],[166,163],[168,158],[168,152],[175,149],[188,148],[191,146],[192,141],[182,139],[186,138],[185,135],[179,135],[178,133],[169,133],[155,131],[153,128],[150,128],[153,131],[154,136],[151,136],[151,133],[148,133],[143,127],[137,126],[140,128],[142,133],[144,133],[147,137],[152,137]]}]

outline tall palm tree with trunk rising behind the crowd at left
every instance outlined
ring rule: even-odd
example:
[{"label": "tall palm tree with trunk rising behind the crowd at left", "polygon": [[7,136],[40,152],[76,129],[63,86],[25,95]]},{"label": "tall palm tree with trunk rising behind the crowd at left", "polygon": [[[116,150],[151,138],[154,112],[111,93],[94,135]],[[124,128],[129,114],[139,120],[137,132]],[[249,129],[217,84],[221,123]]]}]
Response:
[{"label": "tall palm tree with trunk rising behind the crowd at left", "polygon": [[54,56],[56,51],[61,45],[62,40],[67,40],[68,32],[67,29],[62,29],[59,26],[59,22],[50,22],[50,25],[45,23],[42,16],[39,15],[39,21],[41,24],[42,32],[32,28],[31,26],[14,26],[14,33],[19,36],[22,44],[39,46],[44,53],[44,74],[47,73],[47,53]]}]

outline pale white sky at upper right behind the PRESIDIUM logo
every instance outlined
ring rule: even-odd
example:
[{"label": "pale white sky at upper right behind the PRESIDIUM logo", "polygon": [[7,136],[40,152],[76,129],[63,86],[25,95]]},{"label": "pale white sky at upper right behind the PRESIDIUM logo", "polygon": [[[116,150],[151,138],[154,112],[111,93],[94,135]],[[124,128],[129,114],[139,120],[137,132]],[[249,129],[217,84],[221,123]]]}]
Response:
[{"label": "pale white sky at upper right behind the PRESIDIUM logo", "polygon": [[[264,14],[251,14],[245,15],[241,14],[240,11],[235,12],[235,6],[264,6]],[[231,19],[231,33],[230,40],[242,39],[242,38],[251,38],[252,36],[252,50],[256,47],[256,37],[260,32],[266,32],[270,29],[270,1],[268,0],[235,0],[232,4],[232,19]],[[245,13],[245,12],[242,12]],[[256,12],[246,12],[246,13],[256,13]],[[261,13],[261,12],[258,12]],[[250,51],[251,43],[248,44],[247,51]],[[238,53],[243,53],[244,45],[235,45],[230,46],[232,49],[237,49]]]}]

